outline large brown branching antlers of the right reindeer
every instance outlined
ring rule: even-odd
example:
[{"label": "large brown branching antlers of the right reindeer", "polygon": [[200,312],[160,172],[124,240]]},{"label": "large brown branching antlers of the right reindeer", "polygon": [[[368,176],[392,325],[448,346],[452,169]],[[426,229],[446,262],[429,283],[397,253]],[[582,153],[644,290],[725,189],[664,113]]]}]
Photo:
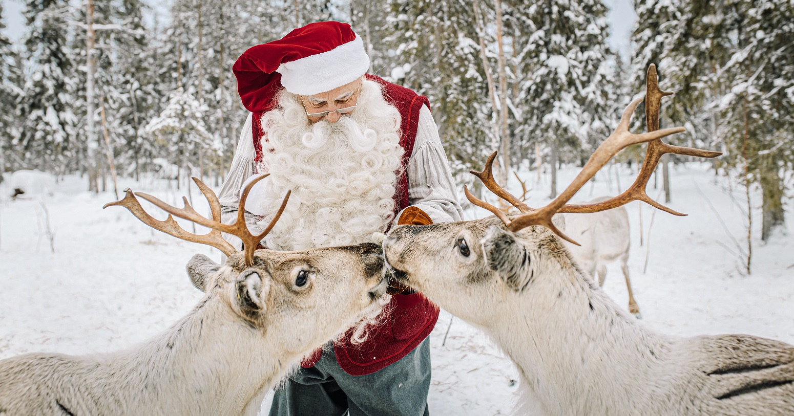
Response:
[{"label": "large brown branching antlers of the right reindeer", "polygon": [[[609,137],[607,137],[607,139],[604,140],[597,149],[595,149],[595,152],[593,152],[593,154],[590,156],[588,162],[584,164],[584,167],[580,173],[576,175],[576,178],[572,181],[571,185],[569,185],[565,191],[563,191],[557,198],[552,200],[545,207],[539,208],[538,210],[533,210],[532,208],[527,207],[526,204],[518,201],[510,193],[507,193],[507,191],[495,183],[493,180],[493,175],[491,174],[491,164],[493,163],[493,160],[496,156],[496,152],[494,152],[491,157],[488,158],[488,162],[486,162],[483,172],[476,172],[472,170],[471,173],[476,177],[480,177],[480,180],[483,181],[488,189],[491,189],[491,192],[495,193],[499,197],[502,197],[504,200],[509,201],[516,208],[518,208],[518,210],[522,212],[522,215],[510,220],[501,211],[499,211],[499,208],[496,208],[493,205],[472,196],[472,194],[468,192],[468,189],[464,189],[466,197],[472,202],[472,204],[476,204],[477,206],[486,208],[488,211],[493,212],[495,216],[498,216],[499,219],[502,219],[510,231],[515,232],[521,230],[522,228],[529,227],[530,225],[542,225],[546,228],[549,228],[549,230],[559,235],[562,239],[572,242],[577,246],[579,243],[570,239],[567,235],[554,226],[551,221],[551,218],[554,214],[564,212],[601,212],[606,211],[607,209],[617,208],[623,204],[627,204],[632,200],[642,200],[654,208],[661,209],[662,211],[669,212],[676,216],[683,216],[684,214],[675,212],[672,209],[659,204],[655,200],[650,199],[650,197],[648,197],[646,194],[645,188],[648,184],[648,179],[650,174],[653,173],[653,170],[656,169],[659,159],[665,153],[698,156],[701,158],[715,158],[719,155],[722,155],[722,152],[704,151],[689,147],[671,146],[667,143],[662,143],[662,137],[665,137],[666,135],[672,135],[673,133],[684,132],[686,129],[682,127],[676,127],[657,130],[659,128],[659,109],[661,108],[661,97],[665,97],[673,93],[659,89],[656,66],[653,64],[651,64],[651,66],[648,68],[648,78],[646,80],[646,85],[646,116],[648,117],[649,132],[642,134],[634,134],[629,132],[629,122],[631,120],[631,115],[634,113],[634,109],[637,109],[637,106],[642,101],[642,98],[638,98],[632,101],[626,110],[623,111],[620,123],[618,124],[618,127],[615,128],[615,132],[612,132],[612,134],[609,135]],[[649,143],[649,145],[646,152],[645,162],[642,164],[642,169],[640,170],[637,179],[634,181],[634,184],[632,184],[629,189],[626,189],[625,192],[621,193],[617,197],[613,197],[595,204],[565,204],[573,197],[574,194],[576,194],[577,191],[579,191],[579,189],[581,189],[582,186],[584,186],[585,183],[587,183],[587,181],[595,176],[596,172],[606,165],[613,156],[617,155],[619,151],[639,143]]]}]

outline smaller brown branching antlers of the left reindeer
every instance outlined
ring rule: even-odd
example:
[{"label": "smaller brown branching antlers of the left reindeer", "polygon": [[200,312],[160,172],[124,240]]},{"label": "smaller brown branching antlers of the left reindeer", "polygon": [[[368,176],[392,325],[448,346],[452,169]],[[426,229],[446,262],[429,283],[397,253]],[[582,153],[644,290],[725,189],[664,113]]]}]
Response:
[{"label": "smaller brown branching antlers of the left reindeer", "polygon": [[[146,193],[133,193],[132,190],[129,188],[125,189],[125,197],[122,200],[116,202],[110,202],[105,204],[102,208],[107,208],[110,206],[118,205],[124,208],[129,209],[129,212],[132,212],[137,219],[140,219],[148,225],[149,227],[154,228],[155,230],[163,231],[166,234],[173,235],[178,239],[183,239],[190,242],[198,242],[201,244],[206,244],[208,246],[213,246],[218,250],[221,250],[223,254],[226,256],[230,256],[232,254],[237,253],[237,250],[229,244],[225,239],[223,239],[221,233],[225,232],[231,235],[235,235],[239,237],[243,241],[243,248],[245,250],[245,264],[252,265],[253,264],[253,254],[256,251],[256,246],[259,244],[262,239],[273,229],[276,225],[276,221],[279,220],[281,213],[284,211],[284,208],[287,207],[287,200],[290,198],[291,191],[287,191],[287,195],[284,197],[284,200],[281,203],[281,207],[279,211],[276,212],[276,216],[273,216],[273,219],[268,224],[268,227],[264,229],[259,235],[252,235],[251,231],[249,231],[248,226],[245,223],[245,200],[248,199],[249,192],[253,185],[256,185],[256,182],[261,181],[265,177],[268,177],[269,174],[264,174],[260,177],[257,177],[253,181],[250,181],[248,185],[245,186],[243,189],[243,193],[240,197],[240,204],[239,208],[237,208],[237,220],[233,224],[225,224],[221,222],[221,203],[218,200],[218,196],[215,195],[212,189],[209,186],[205,185],[198,177],[194,177],[193,181],[195,181],[196,185],[198,185],[198,189],[201,189],[201,192],[206,197],[206,200],[210,203],[210,212],[212,213],[212,219],[208,219],[204,216],[195,212],[195,209],[191,207],[191,204],[187,202],[187,198],[182,197],[182,200],[185,204],[184,208],[175,208],[169,204],[164,203],[162,200],[157,199],[156,197],[152,197]],[[168,218],[164,221],[160,221],[158,219],[152,218],[152,216],[148,215],[145,212],[144,208],[141,207],[141,203],[138,202],[135,196],[141,197],[145,200],[148,200],[152,204],[155,204],[157,207],[161,208],[163,211],[168,212]],[[210,228],[210,231],[204,235],[192,234],[185,231],[182,227],[179,227],[179,224],[176,223],[175,219],[172,216],[178,216],[182,219],[187,219],[204,227]]]}]

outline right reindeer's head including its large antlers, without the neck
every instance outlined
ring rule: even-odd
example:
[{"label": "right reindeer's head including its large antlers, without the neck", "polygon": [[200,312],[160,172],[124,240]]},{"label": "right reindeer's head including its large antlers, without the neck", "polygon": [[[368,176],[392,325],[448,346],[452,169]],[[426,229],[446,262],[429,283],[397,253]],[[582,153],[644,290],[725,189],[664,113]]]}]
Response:
[{"label": "right reindeer's head including its large antlers, without the neck", "polygon": [[[661,97],[671,93],[659,90],[655,68],[651,70],[653,73],[649,71],[649,75],[653,77],[649,76],[649,80],[653,79],[648,85],[646,112],[658,114]],[[557,296],[555,291],[532,289],[558,283],[552,279],[571,276],[575,271],[577,266],[558,237],[573,244],[576,242],[560,231],[563,225],[555,214],[600,212],[631,200],[642,200],[665,212],[684,215],[658,204],[646,194],[648,178],[661,155],[675,153],[714,158],[721,154],[662,143],[662,137],[683,132],[684,128],[656,130],[658,117],[655,127],[649,123],[651,132],[630,133],[630,117],[640,101],[642,98],[626,108],[615,132],[595,150],[572,184],[545,207],[530,208],[496,184],[491,172],[496,153],[491,155],[485,169],[472,171],[472,174],[521,213],[509,216],[465,189],[472,204],[488,209],[495,216],[458,223],[395,227],[384,241],[384,254],[388,264],[396,270],[395,277],[463,319],[487,322],[488,313],[495,310],[493,305],[515,298],[515,294],[532,291],[537,296]],[[637,180],[626,192],[594,204],[566,204],[614,155],[638,143],[649,143],[646,158]]]}]

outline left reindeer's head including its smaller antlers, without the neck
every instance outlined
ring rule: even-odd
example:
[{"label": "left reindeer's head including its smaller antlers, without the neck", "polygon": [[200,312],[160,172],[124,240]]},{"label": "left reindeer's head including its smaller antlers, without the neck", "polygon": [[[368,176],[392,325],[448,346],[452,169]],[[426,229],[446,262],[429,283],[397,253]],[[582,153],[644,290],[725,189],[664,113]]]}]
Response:
[{"label": "left reindeer's head including its smaller antlers, without the neck", "polygon": [[[383,252],[372,243],[291,252],[261,249],[260,240],[275,225],[289,198],[287,193],[268,228],[260,235],[252,235],[245,224],[245,200],[252,185],[266,176],[246,186],[237,222],[231,225],[220,222],[218,197],[197,178],[193,179],[210,202],[213,219],[198,215],[187,200],[184,208],[175,208],[129,189],[125,189],[124,199],[106,207],[123,206],[150,227],[221,250],[227,256],[224,265],[202,254],[188,262],[187,273],[195,287],[206,293],[208,302],[225,304],[232,319],[260,333],[276,334],[283,349],[303,354],[348,329],[368,308],[380,307],[378,300],[387,289]],[[163,208],[169,213],[168,218],[160,221],[149,216],[136,195]],[[172,215],[212,231],[206,235],[188,233]],[[222,238],[221,231],[241,238],[244,251],[237,252]]]}]

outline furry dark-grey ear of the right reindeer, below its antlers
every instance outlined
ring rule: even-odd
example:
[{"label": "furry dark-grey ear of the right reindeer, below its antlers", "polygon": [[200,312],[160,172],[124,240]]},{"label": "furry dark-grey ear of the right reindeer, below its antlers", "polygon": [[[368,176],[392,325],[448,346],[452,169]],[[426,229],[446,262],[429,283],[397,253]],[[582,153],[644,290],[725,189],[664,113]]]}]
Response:
[{"label": "furry dark-grey ear of the right reindeer, below its antlers", "polygon": [[534,270],[529,252],[515,234],[491,227],[482,242],[488,267],[499,273],[508,287],[521,292],[532,281]]}]

